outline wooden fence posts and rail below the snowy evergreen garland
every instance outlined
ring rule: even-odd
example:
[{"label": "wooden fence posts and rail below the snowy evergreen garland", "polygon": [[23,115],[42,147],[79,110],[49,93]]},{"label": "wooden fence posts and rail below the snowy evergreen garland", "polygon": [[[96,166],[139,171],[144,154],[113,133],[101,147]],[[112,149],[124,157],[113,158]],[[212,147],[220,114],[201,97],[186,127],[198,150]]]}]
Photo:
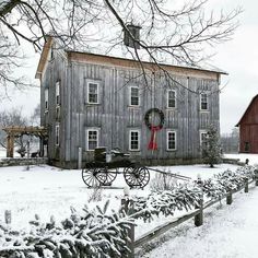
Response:
[{"label": "wooden fence posts and rail below the snowy evergreen garland", "polygon": [[[191,218],[195,218],[195,225],[196,226],[201,226],[203,224],[203,211],[206,209],[210,208],[211,206],[214,206],[218,202],[221,202],[223,199],[226,199],[226,204],[232,204],[233,195],[243,190],[243,189],[244,189],[244,192],[248,192],[249,191],[249,184],[251,184],[254,181],[255,181],[255,186],[258,186],[258,178],[255,178],[251,180],[246,180],[245,185],[243,187],[241,187],[239,189],[232,190],[215,200],[211,200],[206,203],[203,203],[203,201],[201,200],[200,203],[198,204],[198,207],[196,207],[196,210],[188,212],[180,218],[177,218],[177,219],[174,218],[173,220],[171,220],[162,225],[156,226],[155,228],[141,235],[140,237],[137,237],[137,238],[134,237],[134,226],[132,226],[131,232],[129,232],[129,237],[131,239],[131,243],[128,245],[128,247],[131,250],[130,258],[134,257],[134,249],[136,248],[139,248],[140,246],[153,241],[154,238],[159,237],[163,233],[180,225],[181,223],[188,221]],[[125,199],[122,199],[122,206],[125,206]]]}]

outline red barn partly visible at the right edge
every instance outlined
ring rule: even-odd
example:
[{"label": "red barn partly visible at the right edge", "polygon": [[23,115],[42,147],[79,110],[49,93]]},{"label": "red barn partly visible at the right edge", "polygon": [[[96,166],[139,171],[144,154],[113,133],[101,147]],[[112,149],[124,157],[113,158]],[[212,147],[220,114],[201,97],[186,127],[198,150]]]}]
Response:
[{"label": "red barn partly visible at the right edge", "polygon": [[236,126],[239,127],[239,152],[258,153],[258,95]]}]

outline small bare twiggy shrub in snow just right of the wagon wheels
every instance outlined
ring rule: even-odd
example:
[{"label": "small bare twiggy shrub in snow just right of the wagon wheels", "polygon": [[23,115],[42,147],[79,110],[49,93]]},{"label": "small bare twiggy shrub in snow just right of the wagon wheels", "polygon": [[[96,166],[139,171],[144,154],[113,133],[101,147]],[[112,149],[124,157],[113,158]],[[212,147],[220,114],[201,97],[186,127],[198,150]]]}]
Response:
[{"label": "small bare twiggy shrub in snow just right of the wagon wheels", "polygon": [[150,181],[151,191],[172,190],[176,187],[177,179],[169,174],[156,173],[154,178]]}]

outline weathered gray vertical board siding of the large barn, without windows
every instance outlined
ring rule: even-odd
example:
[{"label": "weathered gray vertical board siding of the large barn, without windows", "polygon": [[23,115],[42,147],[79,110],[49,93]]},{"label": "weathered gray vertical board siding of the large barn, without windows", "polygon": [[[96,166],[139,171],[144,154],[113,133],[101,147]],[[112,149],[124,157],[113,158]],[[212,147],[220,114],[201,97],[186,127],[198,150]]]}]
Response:
[{"label": "weathered gray vertical board siding of the large barn, without windows", "polygon": [[[129,130],[141,131],[141,150],[131,152],[142,159],[197,159],[200,156],[200,130],[214,124],[219,128],[219,82],[202,78],[173,75],[174,80],[149,74],[149,86],[139,71],[102,64],[67,61],[57,55],[49,62],[45,77],[42,79],[42,103],[44,106],[44,87],[49,87],[48,118],[42,116],[42,124],[49,125],[49,157],[55,159],[55,83],[61,81],[61,119],[60,119],[60,160],[78,161],[78,148],[83,150],[83,160],[92,159],[86,151],[86,129],[99,130],[99,145],[108,150],[119,148],[129,152]],[[89,80],[99,83],[99,103],[86,102]],[[130,86],[140,90],[140,106],[129,105]],[[167,108],[168,89],[176,91],[176,107]],[[188,91],[189,89],[190,91]],[[209,94],[209,108],[200,110],[200,95]],[[160,108],[165,115],[162,130],[156,134],[157,151],[148,150],[151,131],[144,124],[144,115],[150,108]],[[44,107],[42,107],[44,110]],[[44,112],[42,112],[44,114]],[[166,131],[175,130],[177,149],[166,150]]]}]

